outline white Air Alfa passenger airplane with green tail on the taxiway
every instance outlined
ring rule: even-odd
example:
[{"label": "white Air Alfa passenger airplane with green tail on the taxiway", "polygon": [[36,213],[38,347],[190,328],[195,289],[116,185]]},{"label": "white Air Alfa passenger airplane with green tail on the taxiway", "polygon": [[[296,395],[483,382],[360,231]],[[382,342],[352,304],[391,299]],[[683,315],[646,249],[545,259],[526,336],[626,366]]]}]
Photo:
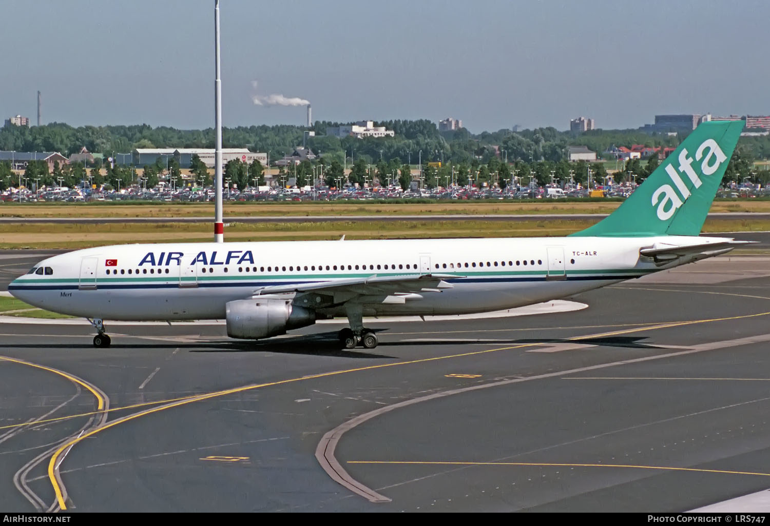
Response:
[{"label": "white Air Alfa passenger airplane with green tail on the taxiway", "polygon": [[553,238],[163,243],[47,258],[8,291],[35,307],[104,320],[224,319],[257,340],[346,317],[344,348],[375,348],[364,316],[462,315],[566,298],[724,254],[701,237],[742,122],[704,122],[611,215]]}]

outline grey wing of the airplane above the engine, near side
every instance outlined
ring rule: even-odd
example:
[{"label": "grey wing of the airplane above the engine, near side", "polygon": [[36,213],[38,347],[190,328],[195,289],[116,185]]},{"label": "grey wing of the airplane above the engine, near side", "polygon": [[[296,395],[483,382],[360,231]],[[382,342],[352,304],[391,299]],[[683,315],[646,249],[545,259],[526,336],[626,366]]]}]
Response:
[{"label": "grey wing of the airplane above the engine, near side", "polygon": [[378,276],[367,278],[337,279],[333,281],[310,281],[291,285],[269,285],[254,291],[254,296],[266,294],[286,294],[288,292],[315,292],[325,295],[395,295],[420,294],[421,292],[440,292],[443,288],[454,285],[444,281],[445,278],[462,278],[451,274],[425,274]]}]

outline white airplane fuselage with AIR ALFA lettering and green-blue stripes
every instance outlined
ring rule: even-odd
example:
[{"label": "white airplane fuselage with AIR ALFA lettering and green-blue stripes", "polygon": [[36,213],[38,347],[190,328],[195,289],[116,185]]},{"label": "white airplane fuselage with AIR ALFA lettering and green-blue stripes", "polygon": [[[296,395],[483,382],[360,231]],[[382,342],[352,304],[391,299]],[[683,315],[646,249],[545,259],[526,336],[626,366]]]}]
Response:
[{"label": "white airplane fuselage with AIR ALFA lettering and green-blue stripes", "polygon": [[[675,240],[675,241],[672,241]],[[260,287],[393,275],[440,274],[452,288],[364,315],[447,315],[564,298],[661,268],[640,257],[654,243],[695,245],[721,238],[492,238],[277,241],[114,245],[41,261],[12,294],[50,311],[105,320],[223,319],[228,301]],[[49,271],[50,269],[50,271]],[[307,305],[312,307],[312,305]],[[343,315],[343,308],[319,309]]]}]

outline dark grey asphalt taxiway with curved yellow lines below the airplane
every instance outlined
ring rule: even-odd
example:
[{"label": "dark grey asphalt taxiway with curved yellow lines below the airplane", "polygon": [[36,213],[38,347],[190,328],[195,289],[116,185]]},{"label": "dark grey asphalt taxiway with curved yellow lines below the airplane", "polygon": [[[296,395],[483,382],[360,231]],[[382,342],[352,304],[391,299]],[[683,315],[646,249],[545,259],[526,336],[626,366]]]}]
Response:
[{"label": "dark grey asphalt taxiway with curved yellow lines below the airplane", "polygon": [[5,511],[686,511],[770,488],[770,258],[578,311],[342,325],[0,324]]}]

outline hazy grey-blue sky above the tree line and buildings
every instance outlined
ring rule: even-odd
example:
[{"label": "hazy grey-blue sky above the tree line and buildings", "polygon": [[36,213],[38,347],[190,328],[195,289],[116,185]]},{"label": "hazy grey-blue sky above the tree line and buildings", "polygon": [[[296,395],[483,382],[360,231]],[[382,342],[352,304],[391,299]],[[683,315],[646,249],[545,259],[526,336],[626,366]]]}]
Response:
[{"label": "hazy grey-blue sky above the tree line and buildings", "polygon": [[[223,125],[768,115],[763,0],[220,0]],[[213,0],[0,2],[0,116],[214,125]],[[254,87],[256,82],[256,88]]]}]

